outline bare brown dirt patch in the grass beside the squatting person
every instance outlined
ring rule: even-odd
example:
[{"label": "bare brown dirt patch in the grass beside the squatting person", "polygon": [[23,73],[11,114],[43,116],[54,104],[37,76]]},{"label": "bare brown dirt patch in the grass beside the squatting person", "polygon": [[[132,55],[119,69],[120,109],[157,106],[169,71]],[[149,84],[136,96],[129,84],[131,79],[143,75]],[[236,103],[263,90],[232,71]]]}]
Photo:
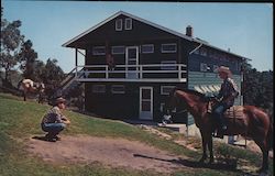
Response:
[{"label": "bare brown dirt patch in the grass beside the squatting person", "polygon": [[31,139],[28,151],[53,164],[101,163],[110,167],[155,169],[161,173],[183,168],[182,158],[138,141],[124,139],[66,136],[47,142]]}]

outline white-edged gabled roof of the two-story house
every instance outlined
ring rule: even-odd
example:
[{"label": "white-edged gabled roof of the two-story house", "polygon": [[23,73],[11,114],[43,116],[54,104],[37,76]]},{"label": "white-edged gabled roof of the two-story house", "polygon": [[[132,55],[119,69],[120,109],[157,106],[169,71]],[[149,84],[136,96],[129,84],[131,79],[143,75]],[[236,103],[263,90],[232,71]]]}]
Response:
[{"label": "white-edged gabled roof of the two-story house", "polygon": [[[98,29],[99,26],[106,24],[107,22],[109,22],[109,21],[116,19],[117,16],[119,16],[119,15],[121,15],[121,14],[127,15],[127,16],[130,16],[130,18],[132,18],[132,19],[134,19],[134,20],[138,20],[138,21],[140,21],[140,22],[143,22],[143,23],[148,24],[148,25],[151,25],[151,26],[154,26],[154,28],[156,28],[156,29],[163,30],[163,31],[165,31],[165,32],[168,32],[168,33],[174,34],[174,35],[176,35],[176,36],[179,36],[179,37],[182,37],[182,38],[188,40],[188,41],[190,41],[190,42],[195,42],[195,43],[198,43],[198,44],[202,44],[202,45],[212,47],[212,48],[215,48],[215,50],[218,50],[218,51],[221,51],[221,52],[224,52],[224,53],[228,53],[228,54],[231,54],[231,55],[241,57],[242,59],[249,59],[249,58],[245,58],[245,57],[243,57],[243,56],[237,55],[237,54],[234,54],[234,53],[230,53],[230,52],[228,52],[228,51],[224,51],[224,50],[221,50],[221,48],[219,48],[219,47],[212,46],[212,45],[210,45],[209,43],[207,43],[206,41],[199,40],[199,38],[197,38],[197,37],[190,37],[190,36],[188,36],[188,35],[185,35],[185,34],[183,34],[183,33],[173,31],[173,30],[170,30],[170,29],[167,29],[167,28],[165,28],[165,26],[162,26],[162,25],[158,25],[158,24],[156,24],[156,23],[150,22],[150,21],[147,21],[147,20],[141,19],[141,18],[139,18],[139,16],[135,16],[135,15],[133,15],[133,14],[127,13],[127,12],[124,12],[124,11],[119,11],[119,12],[114,13],[113,15],[109,16],[109,18],[106,19],[105,21],[98,23],[97,25],[90,28],[89,30],[87,30],[87,31],[80,33],[79,35],[77,35],[77,36],[75,36],[74,38],[69,40],[68,42],[64,43],[62,46],[64,46],[64,47],[69,47],[69,44],[72,44],[73,42],[76,42],[77,40],[79,40],[79,38],[81,38],[82,36],[89,34],[90,32],[95,31],[95,30]],[[250,59],[249,59],[249,61],[250,61]]]}]

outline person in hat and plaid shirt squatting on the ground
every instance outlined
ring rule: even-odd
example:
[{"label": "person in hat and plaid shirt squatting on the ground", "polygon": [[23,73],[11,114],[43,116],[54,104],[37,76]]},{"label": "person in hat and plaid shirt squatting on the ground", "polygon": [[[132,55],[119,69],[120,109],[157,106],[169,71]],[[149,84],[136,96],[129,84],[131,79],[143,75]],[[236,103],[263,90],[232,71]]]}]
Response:
[{"label": "person in hat and plaid shirt squatting on the ground", "polygon": [[57,136],[66,125],[70,124],[70,121],[62,113],[62,110],[66,108],[66,99],[57,98],[54,107],[43,117],[41,128],[47,132],[45,140],[51,142],[59,141]]}]

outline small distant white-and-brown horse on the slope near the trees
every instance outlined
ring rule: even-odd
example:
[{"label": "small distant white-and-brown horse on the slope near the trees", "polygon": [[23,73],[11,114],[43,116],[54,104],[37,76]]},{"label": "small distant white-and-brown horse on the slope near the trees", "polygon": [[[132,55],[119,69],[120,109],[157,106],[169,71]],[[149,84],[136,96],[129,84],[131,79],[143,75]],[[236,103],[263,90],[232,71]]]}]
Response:
[{"label": "small distant white-and-brown horse on the slope near the trees", "polygon": [[24,101],[29,94],[38,95],[38,103],[43,101],[45,85],[43,82],[34,82],[31,79],[22,79],[18,84],[18,88],[23,91]]}]

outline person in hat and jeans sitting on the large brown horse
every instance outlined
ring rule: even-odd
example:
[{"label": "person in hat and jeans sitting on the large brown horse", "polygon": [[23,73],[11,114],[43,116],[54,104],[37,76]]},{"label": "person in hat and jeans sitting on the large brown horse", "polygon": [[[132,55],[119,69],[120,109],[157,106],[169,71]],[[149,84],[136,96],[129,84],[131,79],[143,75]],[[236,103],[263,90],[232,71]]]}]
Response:
[{"label": "person in hat and jeans sitting on the large brown horse", "polygon": [[219,128],[226,131],[227,125],[223,120],[223,113],[234,105],[234,99],[239,96],[239,90],[234,80],[231,78],[232,74],[229,67],[220,66],[218,68],[218,74],[219,77],[223,79],[223,82],[217,96],[218,102],[212,108],[212,113],[220,122]]}]

